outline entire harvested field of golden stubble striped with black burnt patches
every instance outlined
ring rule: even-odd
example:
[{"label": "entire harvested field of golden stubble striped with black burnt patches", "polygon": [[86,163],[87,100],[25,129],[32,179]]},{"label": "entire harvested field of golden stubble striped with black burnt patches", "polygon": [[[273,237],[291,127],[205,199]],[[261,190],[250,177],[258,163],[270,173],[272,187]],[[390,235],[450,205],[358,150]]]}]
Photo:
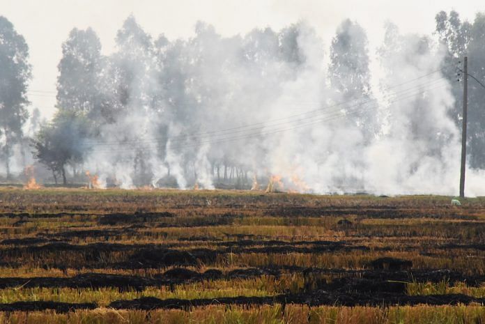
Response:
[{"label": "entire harvested field of golden stubble striped with black burnt patches", "polygon": [[0,190],[0,323],[485,323],[485,199]]}]

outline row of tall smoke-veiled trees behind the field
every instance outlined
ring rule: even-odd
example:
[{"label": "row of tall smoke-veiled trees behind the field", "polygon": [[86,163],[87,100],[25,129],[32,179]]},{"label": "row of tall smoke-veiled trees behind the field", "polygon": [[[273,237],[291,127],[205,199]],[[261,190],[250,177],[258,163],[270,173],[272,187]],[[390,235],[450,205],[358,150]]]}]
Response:
[{"label": "row of tall smoke-veiled trees behind the field", "polygon": [[[389,58],[406,41],[396,26],[387,24],[385,29],[378,57]],[[38,110],[32,116],[27,110],[32,77],[29,47],[13,24],[0,17],[0,146],[5,176],[13,176],[10,164],[17,148],[49,169],[56,183],[68,183],[69,175],[79,174],[86,163],[93,165],[93,159],[99,168],[106,168],[106,161],[113,165],[125,161],[131,166],[133,185],[153,183],[160,174],[183,174],[197,181],[204,177],[199,171],[203,167],[217,182],[250,183],[247,171],[254,169],[254,161],[241,157],[241,146],[221,141],[207,148],[203,158],[199,148],[205,147],[207,134],[224,129],[226,121],[249,120],[241,102],[265,107],[282,98],[284,88],[279,88],[279,82],[291,82],[295,71],[311,64],[312,55],[323,55],[323,49],[316,54],[305,49],[305,41],[317,38],[302,23],[281,31],[254,29],[245,36],[224,38],[213,26],[199,22],[192,38],[169,40],[164,35],[153,38],[130,16],[116,33],[116,50],[105,55],[93,29],[72,29],[57,67],[56,113],[27,137],[29,118],[34,123],[39,120]],[[409,60],[436,45],[445,49],[443,75],[455,99],[450,116],[459,125],[461,86],[456,82],[456,62],[468,55],[470,71],[485,80],[485,14],[467,22],[455,11],[442,11],[436,15],[434,35],[416,36],[415,43]],[[326,71],[328,88],[338,98],[374,98],[369,56],[362,26],[342,22],[332,38]],[[470,166],[484,169],[485,91],[470,82],[469,94]],[[266,115],[261,112],[261,116]],[[348,120],[368,141],[381,132],[376,109],[348,114]],[[419,125],[410,127],[419,132]],[[258,155],[268,148],[251,146],[251,150]]]}]

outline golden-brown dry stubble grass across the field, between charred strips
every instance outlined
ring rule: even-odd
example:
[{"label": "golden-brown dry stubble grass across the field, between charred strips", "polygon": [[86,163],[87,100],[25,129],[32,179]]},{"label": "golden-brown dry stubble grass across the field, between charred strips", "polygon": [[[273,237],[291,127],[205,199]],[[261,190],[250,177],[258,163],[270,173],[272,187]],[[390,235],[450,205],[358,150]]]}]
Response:
[{"label": "golden-brown dry stubble grass across the field, between charred strips", "polygon": [[[141,247],[157,245],[179,251],[217,250],[212,261],[187,266],[203,272],[217,268],[317,267],[364,270],[374,259],[390,256],[413,262],[414,270],[449,269],[485,275],[485,199],[467,199],[461,208],[450,197],[314,196],[262,192],[174,190],[33,190],[0,188],[0,277],[72,277],[86,272],[153,277],[171,266],[123,268]],[[109,213],[168,212],[153,222],[101,224]],[[6,213],[13,213],[7,215]],[[18,215],[29,213],[29,215]],[[59,215],[66,213],[66,215]],[[339,225],[341,219],[351,222]],[[83,231],[98,231],[84,235]],[[102,233],[101,233],[102,232]],[[88,233],[88,232],[86,232]],[[38,243],[1,243],[43,238]],[[40,249],[61,240],[75,247]],[[341,249],[314,249],[318,241]],[[127,246],[121,250],[82,249],[93,243]],[[130,247],[131,246],[131,247]],[[267,252],[267,247],[288,251]],[[296,247],[308,252],[294,252]],[[36,249],[39,248],[39,249]],[[259,248],[261,252],[245,249]],[[249,251],[249,252],[248,252]],[[318,276],[317,276],[318,277]],[[315,280],[333,279],[320,275]],[[96,302],[157,298],[222,298],[298,293],[312,288],[298,270],[279,277],[185,282],[142,291],[108,288],[5,288],[0,302],[54,300]],[[409,295],[463,293],[481,298],[485,286],[465,283],[409,282]],[[0,313],[1,323],[485,323],[482,306],[307,307],[281,305],[210,306],[191,311],[115,311],[100,308],[68,314]]]}]

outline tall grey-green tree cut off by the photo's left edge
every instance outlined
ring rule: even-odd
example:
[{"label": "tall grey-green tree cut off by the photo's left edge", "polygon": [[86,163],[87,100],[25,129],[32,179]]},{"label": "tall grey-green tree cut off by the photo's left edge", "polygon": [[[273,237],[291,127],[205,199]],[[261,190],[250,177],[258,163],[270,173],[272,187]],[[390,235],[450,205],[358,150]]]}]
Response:
[{"label": "tall grey-green tree cut off by the photo's left edge", "polygon": [[25,106],[31,78],[29,47],[6,17],[0,16],[0,146],[10,178],[12,148],[22,138],[22,125],[29,117]]}]

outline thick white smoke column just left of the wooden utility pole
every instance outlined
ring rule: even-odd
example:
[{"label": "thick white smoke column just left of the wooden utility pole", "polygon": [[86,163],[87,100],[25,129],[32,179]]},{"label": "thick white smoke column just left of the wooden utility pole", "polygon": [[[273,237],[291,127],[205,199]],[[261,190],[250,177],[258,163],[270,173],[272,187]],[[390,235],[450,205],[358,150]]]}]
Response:
[{"label": "thick white smoke column just left of the wooden utility pole", "polygon": [[[444,52],[424,36],[403,36],[392,24],[385,29],[378,51],[385,70],[381,81],[403,85],[383,91],[390,94],[382,107],[387,130],[366,152],[366,183],[373,192],[453,194],[459,132],[448,114],[454,98],[440,71]],[[408,82],[423,75],[427,76]],[[411,87],[416,95],[404,92],[406,100],[392,101],[397,92]]]}]

